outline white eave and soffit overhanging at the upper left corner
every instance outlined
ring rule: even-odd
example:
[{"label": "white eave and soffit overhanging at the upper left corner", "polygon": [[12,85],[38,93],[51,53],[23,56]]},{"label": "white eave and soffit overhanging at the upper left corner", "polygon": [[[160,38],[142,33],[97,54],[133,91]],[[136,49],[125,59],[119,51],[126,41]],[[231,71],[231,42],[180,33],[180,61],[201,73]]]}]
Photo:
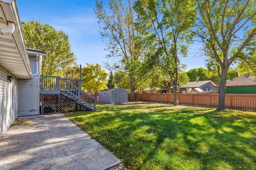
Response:
[{"label": "white eave and soffit overhanging at the upper left corner", "polygon": [[22,33],[16,0],[0,0],[0,29],[14,31],[8,35],[0,34],[0,65],[20,79],[31,79],[32,71]]}]

